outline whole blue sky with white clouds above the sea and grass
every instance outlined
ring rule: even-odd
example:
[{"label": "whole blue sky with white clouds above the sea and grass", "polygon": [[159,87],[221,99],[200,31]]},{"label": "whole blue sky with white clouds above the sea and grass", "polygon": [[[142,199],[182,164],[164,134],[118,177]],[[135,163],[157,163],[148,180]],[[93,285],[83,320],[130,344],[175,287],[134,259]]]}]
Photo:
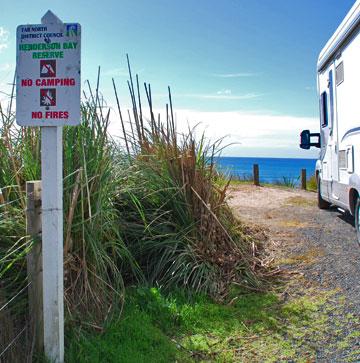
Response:
[{"label": "whole blue sky with white clouds above the sea and grass", "polygon": [[[225,137],[223,155],[316,158],[299,148],[319,129],[318,55],[355,0],[0,0],[0,92],[16,63],[16,27],[50,9],[82,26],[82,85],[100,89],[119,133],[111,79],[129,108],[126,54],[156,111],[171,87],[179,131]],[[146,99],[143,92],[144,101]],[[0,93],[0,101],[7,96]]]}]

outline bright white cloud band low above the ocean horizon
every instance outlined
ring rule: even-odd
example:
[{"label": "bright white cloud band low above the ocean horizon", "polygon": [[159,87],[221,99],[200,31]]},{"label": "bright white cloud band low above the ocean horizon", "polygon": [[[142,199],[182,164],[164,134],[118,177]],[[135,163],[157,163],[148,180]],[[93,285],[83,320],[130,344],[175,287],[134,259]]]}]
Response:
[{"label": "bright white cloud band low above the ocean horizon", "polygon": [[[155,115],[158,113],[164,120],[164,110],[154,110]],[[175,118],[180,133],[198,125],[198,136],[205,131],[211,141],[225,137],[223,144],[232,145],[224,150],[223,155],[311,158],[318,153],[318,149],[304,151],[299,148],[300,132],[304,129],[316,132],[319,127],[317,118],[186,109],[175,110]],[[110,129],[112,134],[121,135],[120,122],[113,120]]]}]

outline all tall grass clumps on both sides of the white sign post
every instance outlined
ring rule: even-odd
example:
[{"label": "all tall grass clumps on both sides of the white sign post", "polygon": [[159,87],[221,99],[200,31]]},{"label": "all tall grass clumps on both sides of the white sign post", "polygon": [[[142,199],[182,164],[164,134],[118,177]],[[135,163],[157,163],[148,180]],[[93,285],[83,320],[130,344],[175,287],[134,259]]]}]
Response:
[{"label": "all tall grass clumps on both sides of the white sign post", "polygon": [[[64,128],[64,286],[68,322],[99,326],[121,311],[125,285],[185,288],[223,297],[232,284],[259,288],[261,244],[226,204],[214,157],[219,142],[176,130],[154,115],[151,87],[134,86],[123,141],[108,133],[110,110],[88,84],[82,123]],[[141,95],[146,95],[145,118]],[[40,131],[15,125],[12,99],[0,109],[0,296],[26,284],[25,182],[40,178]],[[126,123],[128,121],[128,123]],[[222,185],[220,187],[220,185]],[[19,287],[15,282],[19,281]],[[23,318],[26,320],[26,300]]]}]

